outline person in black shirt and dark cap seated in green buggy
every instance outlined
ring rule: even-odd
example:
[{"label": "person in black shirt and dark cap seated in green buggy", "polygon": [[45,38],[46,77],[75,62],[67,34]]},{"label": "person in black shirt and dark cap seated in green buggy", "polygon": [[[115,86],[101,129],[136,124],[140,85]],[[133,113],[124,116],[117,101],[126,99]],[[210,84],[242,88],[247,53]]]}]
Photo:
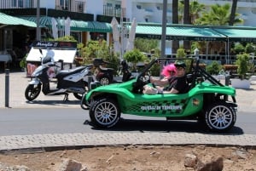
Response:
[{"label": "person in black shirt and dark cap seated in green buggy", "polygon": [[[169,86],[164,89],[155,88],[149,94],[184,94],[186,93],[188,88],[187,78],[186,78],[186,65],[183,61],[177,61],[174,64],[174,66],[176,66],[177,73],[176,73],[176,76],[173,76],[170,79],[168,79]],[[155,83],[153,79],[150,79],[150,82]],[[148,94],[147,89],[145,89],[143,93]]]}]

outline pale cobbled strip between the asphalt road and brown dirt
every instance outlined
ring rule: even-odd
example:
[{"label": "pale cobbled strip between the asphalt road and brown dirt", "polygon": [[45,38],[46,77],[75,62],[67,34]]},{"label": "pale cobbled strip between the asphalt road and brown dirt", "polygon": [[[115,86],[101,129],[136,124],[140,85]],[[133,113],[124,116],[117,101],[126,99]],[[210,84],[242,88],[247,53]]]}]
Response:
[{"label": "pale cobbled strip between the asphalt road and brown dirt", "polygon": [[0,151],[106,145],[238,145],[256,147],[252,134],[88,133],[0,136]]}]

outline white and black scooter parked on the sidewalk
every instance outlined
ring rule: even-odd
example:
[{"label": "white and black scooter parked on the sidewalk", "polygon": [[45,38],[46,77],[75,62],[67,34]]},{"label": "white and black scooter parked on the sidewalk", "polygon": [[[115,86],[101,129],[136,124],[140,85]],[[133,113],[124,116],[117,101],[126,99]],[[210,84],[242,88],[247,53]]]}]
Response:
[{"label": "white and black scooter parked on the sidewalk", "polygon": [[[42,50],[39,50],[42,54]],[[38,66],[38,68],[33,71],[32,81],[26,87],[26,100],[35,100],[40,94],[42,86],[42,92],[44,95],[64,94],[64,101],[68,100],[69,93],[73,93],[78,100],[81,100],[83,94],[88,91],[89,84],[86,77],[90,77],[92,75],[90,71],[92,65],[79,66],[69,71],[59,71],[55,76],[57,79],[56,88],[50,88],[47,71],[51,66],[56,66],[56,62],[54,61],[54,52],[52,50],[48,50],[41,63],[42,65]]]}]

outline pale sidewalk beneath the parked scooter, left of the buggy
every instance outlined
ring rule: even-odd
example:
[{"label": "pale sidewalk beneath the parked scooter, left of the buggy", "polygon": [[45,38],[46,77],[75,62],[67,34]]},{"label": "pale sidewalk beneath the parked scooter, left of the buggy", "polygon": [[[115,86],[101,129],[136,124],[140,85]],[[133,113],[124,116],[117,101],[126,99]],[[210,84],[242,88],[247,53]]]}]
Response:
[{"label": "pale sidewalk beneath the parked scooter, left of the buggy", "polygon": [[[0,73],[0,108],[5,107],[5,73]],[[73,94],[68,95],[67,102],[64,102],[64,95],[46,96],[41,92],[36,100],[29,102],[25,98],[25,90],[30,77],[25,72],[10,72],[9,74],[9,107],[10,108],[58,108],[58,107],[80,107],[80,100]],[[54,83],[51,85],[55,86]]]}]

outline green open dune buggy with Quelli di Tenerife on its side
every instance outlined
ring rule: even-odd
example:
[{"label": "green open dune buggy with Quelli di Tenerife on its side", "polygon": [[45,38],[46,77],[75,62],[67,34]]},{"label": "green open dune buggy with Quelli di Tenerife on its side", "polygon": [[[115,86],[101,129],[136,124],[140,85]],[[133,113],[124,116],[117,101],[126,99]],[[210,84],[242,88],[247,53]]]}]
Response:
[{"label": "green open dune buggy with Quelli di Tenerife on its side", "polygon": [[137,78],[90,89],[84,95],[84,101],[90,104],[90,123],[94,127],[112,128],[119,123],[121,113],[124,113],[166,117],[166,120],[199,120],[214,132],[225,132],[232,128],[236,123],[236,89],[219,83],[199,66],[199,60],[178,59],[187,64],[187,93],[143,94],[143,86],[150,85],[148,70],[161,61],[171,63],[176,60],[152,60]]}]

